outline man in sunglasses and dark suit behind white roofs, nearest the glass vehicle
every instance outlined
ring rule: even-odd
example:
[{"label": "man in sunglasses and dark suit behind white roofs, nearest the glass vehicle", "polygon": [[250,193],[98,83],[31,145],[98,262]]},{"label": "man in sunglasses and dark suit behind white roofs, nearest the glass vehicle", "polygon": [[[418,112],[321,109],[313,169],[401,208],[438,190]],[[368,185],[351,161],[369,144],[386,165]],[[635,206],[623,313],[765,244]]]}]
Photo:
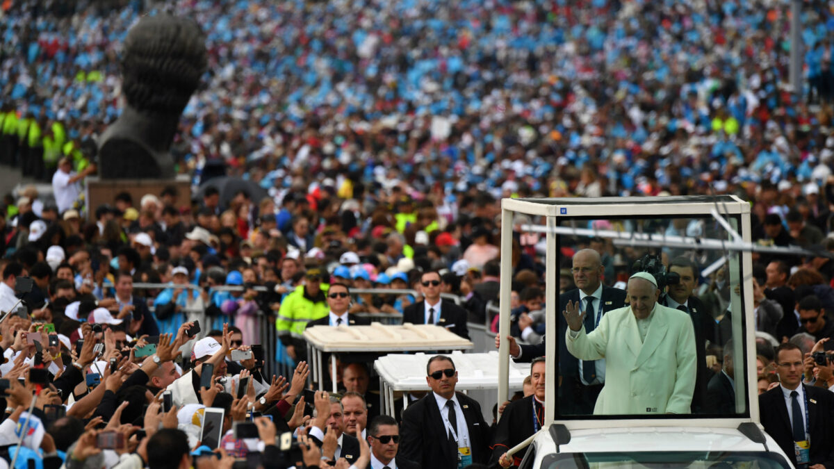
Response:
[{"label": "man in sunglasses and dark suit behind white roofs, nearest the glass vehicle", "polygon": [[434,270],[420,276],[423,285],[423,301],[406,306],[403,311],[403,323],[436,324],[469,340],[469,328],[466,326],[466,310],[455,303],[440,300],[440,274]]}]

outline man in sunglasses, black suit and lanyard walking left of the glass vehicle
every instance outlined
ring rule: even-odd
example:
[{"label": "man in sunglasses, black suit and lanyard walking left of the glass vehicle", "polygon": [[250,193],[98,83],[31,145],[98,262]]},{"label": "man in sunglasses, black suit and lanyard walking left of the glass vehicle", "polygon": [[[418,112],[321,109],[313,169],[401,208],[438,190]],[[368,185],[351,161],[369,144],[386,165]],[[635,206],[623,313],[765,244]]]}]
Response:
[{"label": "man in sunglasses, black suit and lanyard walking left of the glass vehicle", "polygon": [[399,454],[420,467],[455,469],[485,464],[490,458],[490,426],[477,401],[455,392],[458,372],[448,356],[433,356],[426,366],[432,390],[403,412]]}]

